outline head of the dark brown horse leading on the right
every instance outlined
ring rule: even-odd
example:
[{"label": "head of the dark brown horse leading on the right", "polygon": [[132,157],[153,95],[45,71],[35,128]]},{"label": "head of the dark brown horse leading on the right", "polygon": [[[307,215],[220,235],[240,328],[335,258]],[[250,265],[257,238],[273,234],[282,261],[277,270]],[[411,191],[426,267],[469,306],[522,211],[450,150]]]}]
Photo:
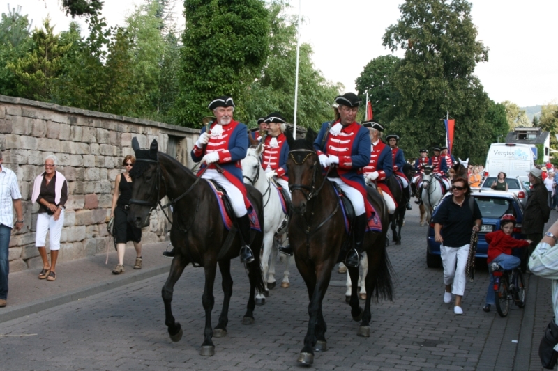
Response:
[{"label": "head of the dark brown horse leading on the right", "polygon": [[306,203],[316,196],[316,183],[323,181],[322,166],[314,149],[315,132],[308,129],[306,138],[294,139],[289,129],[285,131],[289,143],[287,169],[291,191],[292,210],[298,214],[306,212]]}]

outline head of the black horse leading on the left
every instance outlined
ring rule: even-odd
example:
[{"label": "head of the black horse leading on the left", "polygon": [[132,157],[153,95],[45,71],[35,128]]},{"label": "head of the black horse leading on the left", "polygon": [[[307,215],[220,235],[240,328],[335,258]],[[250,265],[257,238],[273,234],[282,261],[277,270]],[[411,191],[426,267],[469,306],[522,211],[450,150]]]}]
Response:
[{"label": "head of the black horse leading on the left", "polygon": [[165,190],[161,187],[163,175],[159,166],[159,146],[156,139],[151,142],[149,150],[142,150],[134,137],[132,148],[136,160],[130,170],[133,183],[128,222],[137,228],[142,228],[149,226],[149,214],[157,206],[158,201],[165,196]]}]

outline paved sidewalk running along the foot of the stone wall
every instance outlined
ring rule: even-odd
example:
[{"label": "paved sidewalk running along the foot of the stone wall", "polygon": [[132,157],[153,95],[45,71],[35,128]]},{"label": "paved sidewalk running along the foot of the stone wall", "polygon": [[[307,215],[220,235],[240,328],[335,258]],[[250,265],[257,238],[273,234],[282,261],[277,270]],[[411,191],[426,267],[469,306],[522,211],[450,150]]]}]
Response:
[{"label": "paved sidewalk running along the foot of the stone wall", "polygon": [[54,282],[38,279],[40,269],[10,274],[8,306],[0,308],[0,323],[167,273],[172,260],[165,258],[162,253],[168,244],[160,242],[144,245],[142,269],[133,269],[135,250],[131,243],[126,245],[126,272],[119,275],[112,274],[112,269],[118,263],[114,248],[109,253],[106,265],[105,253],[56,264]]}]

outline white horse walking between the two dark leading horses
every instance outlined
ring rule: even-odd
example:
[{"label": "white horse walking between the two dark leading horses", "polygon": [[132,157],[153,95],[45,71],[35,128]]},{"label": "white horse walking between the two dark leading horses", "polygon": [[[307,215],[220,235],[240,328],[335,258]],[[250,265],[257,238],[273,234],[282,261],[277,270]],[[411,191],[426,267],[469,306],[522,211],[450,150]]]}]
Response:
[{"label": "white horse walking between the two dark leading horses", "polygon": [[[244,182],[246,184],[252,184],[258,191],[262,192],[264,196],[264,248],[262,249],[262,271],[264,274],[264,281],[266,281],[266,290],[264,294],[256,294],[256,304],[259,305],[265,303],[265,297],[269,294],[269,289],[272,289],[276,285],[275,262],[277,260],[278,249],[277,246],[274,246],[274,239],[286,215],[282,210],[277,188],[273,182],[266,177],[261,161],[259,161],[259,155],[261,155],[263,150],[264,145],[262,143],[257,145],[257,147],[252,146],[248,148],[246,157],[241,161]],[[283,234],[283,236],[284,235],[285,234]],[[271,254],[272,252],[273,254]],[[286,257],[285,260],[285,271],[283,272],[283,280],[281,283],[281,287],[283,288],[290,286],[290,256]]]}]

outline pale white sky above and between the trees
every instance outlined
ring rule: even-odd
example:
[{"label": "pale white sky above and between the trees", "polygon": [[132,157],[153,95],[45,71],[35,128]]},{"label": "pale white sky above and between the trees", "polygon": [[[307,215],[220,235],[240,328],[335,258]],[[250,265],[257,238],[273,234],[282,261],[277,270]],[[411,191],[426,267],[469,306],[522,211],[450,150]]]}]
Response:
[{"label": "pale white sky above and between the trees", "polygon": [[[8,0],[10,8],[22,6],[22,14],[33,19],[33,27],[47,15],[55,32],[68,29],[72,20],[60,10],[60,0]],[[0,0],[0,12],[8,10]],[[299,0],[290,0],[298,14]],[[557,27],[558,1],[469,0],[477,40],[490,49],[488,62],[477,65],[488,96],[495,102],[509,100],[519,106],[558,101]],[[400,0],[301,0],[306,22],[301,41],[312,45],[316,68],[345,91],[354,91],[354,81],[368,62],[391,54],[382,46],[386,28],[400,17]],[[110,25],[123,25],[141,0],[105,0],[103,15]],[[176,0],[175,13],[183,29],[183,2]],[[80,22],[84,24],[83,22]],[[86,30],[86,26],[82,26]],[[402,56],[396,53],[395,55]]]}]

